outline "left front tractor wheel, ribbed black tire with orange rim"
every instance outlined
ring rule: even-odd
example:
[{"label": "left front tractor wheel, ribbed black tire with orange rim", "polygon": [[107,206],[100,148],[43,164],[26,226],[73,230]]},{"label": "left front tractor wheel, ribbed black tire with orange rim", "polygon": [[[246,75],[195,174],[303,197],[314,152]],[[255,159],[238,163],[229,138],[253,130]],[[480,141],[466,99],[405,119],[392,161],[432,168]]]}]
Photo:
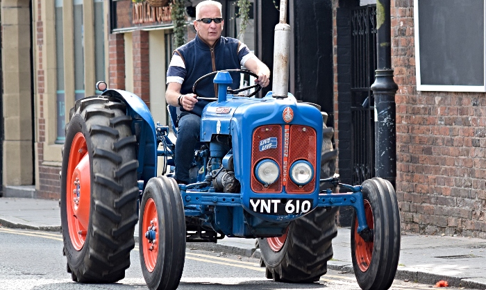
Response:
[{"label": "left front tractor wheel, ribbed black tire with orange rim", "polygon": [[140,264],[149,289],[176,289],[184,268],[185,216],[174,178],[151,178],[140,203]]}]

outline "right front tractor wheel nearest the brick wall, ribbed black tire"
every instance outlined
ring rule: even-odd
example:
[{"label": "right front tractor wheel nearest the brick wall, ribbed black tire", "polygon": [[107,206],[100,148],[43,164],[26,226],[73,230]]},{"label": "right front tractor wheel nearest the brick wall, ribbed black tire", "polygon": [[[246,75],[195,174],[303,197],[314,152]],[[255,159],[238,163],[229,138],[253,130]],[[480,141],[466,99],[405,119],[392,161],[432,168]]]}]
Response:
[{"label": "right front tractor wheel nearest the brick wall, ribbed black tire", "polygon": [[364,214],[373,240],[358,234],[358,219],[351,223],[351,259],[361,289],[389,289],[400,257],[400,212],[392,184],[382,178],[362,183]]}]

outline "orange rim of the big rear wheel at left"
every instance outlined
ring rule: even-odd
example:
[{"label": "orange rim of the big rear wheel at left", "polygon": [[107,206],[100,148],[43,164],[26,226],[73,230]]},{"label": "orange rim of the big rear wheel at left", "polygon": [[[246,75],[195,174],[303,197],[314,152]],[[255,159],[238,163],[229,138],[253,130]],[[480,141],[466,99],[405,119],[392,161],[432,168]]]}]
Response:
[{"label": "orange rim of the big rear wheel at left", "polygon": [[90,224],[91,173],[86,139],[77,133],[69,151],[66,178],[67,226],[73,247],[81,250]]}]

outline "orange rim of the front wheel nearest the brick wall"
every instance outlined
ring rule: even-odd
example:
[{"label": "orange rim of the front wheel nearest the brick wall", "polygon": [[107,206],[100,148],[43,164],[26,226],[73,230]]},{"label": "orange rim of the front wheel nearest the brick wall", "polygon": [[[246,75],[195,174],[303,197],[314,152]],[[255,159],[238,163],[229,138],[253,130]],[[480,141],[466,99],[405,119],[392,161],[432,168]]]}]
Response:
[{"label": "orange rim of the front wheel nearest the brick wall", "polygon": [[[364,214],[366,216],[366,222],[370,230],[374,229],[373,211],[369,201],[364,200]],[[373,244],[374,241],[364,241],[364,239],[358,234],[358,219],[355,221],[355,257],[358,262],[358,267],[362,272],[366,272],[371,264],[371,257],[373,256]]]}]

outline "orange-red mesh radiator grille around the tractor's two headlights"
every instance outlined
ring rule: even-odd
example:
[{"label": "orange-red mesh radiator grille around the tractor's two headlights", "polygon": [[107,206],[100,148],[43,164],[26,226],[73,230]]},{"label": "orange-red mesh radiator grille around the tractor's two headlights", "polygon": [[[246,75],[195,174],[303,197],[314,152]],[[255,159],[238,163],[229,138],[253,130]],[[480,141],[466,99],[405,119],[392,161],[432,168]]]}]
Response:
[{"label": "orange-red mesh radiator grille around the tractor's two headlights", "polygon": [[[271,137],[276,137],[277,147],[260,151],[260,142]],[[288,142],[287,144],[285,144],[286,141]],[[253,132],[251,144],[252,191],[257,193],[280,193],[283,191],[284,186],[288,194],[309,194],[315,190],[316,176],[307,185],[299,187],[299,185],[292,182],[289,175],[290,167],[296,160],[307,160],[312,164],[315,171],[320,169],[316,167],[317,135],[313,128],[300,125],[260,126]],[[257,180],[254,172],[256,164],[263,159],[274,160],[280,167],[280,177],[268,187],[264,187]]]}]

